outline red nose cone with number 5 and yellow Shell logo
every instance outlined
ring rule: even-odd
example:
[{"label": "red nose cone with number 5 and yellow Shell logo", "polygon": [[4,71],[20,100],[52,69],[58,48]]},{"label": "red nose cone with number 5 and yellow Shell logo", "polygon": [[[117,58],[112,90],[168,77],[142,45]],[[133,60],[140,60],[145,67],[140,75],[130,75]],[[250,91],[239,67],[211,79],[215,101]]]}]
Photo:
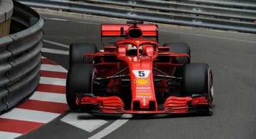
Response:
[{"label": "red nose cone with number 5 and yellow Shell logo", "polygon": [[157,109],[153,86],[152,61],[130,64],[132,109],[147,111]]}]

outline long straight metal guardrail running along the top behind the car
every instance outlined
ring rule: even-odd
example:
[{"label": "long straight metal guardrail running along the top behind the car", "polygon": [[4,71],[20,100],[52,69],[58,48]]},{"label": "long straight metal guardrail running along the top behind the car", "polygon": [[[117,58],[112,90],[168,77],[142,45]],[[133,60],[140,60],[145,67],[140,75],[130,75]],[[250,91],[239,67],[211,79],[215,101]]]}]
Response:
[{"label": "long straight metal guardrail running along the top behind the car", "polygon": [[19,0],[31,7],[191,27],[256,32],[254,0]]}]

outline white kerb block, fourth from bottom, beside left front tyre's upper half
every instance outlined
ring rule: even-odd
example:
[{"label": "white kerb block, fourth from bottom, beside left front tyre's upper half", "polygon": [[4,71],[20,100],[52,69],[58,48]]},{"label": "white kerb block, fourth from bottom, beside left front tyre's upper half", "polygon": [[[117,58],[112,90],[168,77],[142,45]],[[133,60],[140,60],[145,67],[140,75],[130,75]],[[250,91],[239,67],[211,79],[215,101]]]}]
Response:
[{"label": "white kerb block, fourth from bottom, beside left front tyre's upper half", "polygon": [[48,84],[48,85],[66,85],[65,78],[50,78],[50,77],[40,77],[39,83]]}]

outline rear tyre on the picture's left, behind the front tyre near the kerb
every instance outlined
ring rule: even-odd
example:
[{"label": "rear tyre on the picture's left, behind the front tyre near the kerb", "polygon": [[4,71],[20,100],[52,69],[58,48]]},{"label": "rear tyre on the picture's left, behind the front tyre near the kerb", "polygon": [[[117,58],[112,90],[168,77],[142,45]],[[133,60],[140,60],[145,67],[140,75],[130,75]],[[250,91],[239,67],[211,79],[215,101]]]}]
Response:
[{"label": "rear tyre on the picture's left, behind the front tyre near the kerb", "polygon": [[[83,54],[96,53],[97,47],[92,43],[72,43],[70,44],[70,65],[83,63]],[[84,63],[91,64],[92,58],[86,59]]]}]

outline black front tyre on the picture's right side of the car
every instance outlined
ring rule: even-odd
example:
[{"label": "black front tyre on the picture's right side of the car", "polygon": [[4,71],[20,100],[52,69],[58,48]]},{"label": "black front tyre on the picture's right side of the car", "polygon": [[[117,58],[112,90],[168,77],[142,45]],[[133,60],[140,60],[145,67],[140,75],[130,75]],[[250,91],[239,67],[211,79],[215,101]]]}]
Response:
[{"label": "black front tyre on the picture's right side of the car", "polygon": [[208,64],[186,64],[182,77],[181,96],[208,94],[209,101],[213,101],[213,73]]}]

